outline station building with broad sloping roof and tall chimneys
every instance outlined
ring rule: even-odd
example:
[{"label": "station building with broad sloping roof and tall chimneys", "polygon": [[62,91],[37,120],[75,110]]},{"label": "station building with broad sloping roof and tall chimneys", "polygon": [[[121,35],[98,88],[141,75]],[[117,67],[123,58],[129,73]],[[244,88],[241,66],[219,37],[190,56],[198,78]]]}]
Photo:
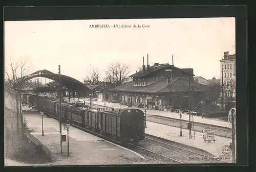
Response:
[{"label": "station building with broad sloping roof and tall chimneys", "polygon": [[[143,65],[142,70],[130,76],[132,81],[110,89],[111,100],[147,109],[190,109],[206,99],[209,87],[194,82],[193,68],[178,68],[174,64]],[[190,86],[190,90],[189,90]],[[189,93],[190,92],[190,93]]]}]

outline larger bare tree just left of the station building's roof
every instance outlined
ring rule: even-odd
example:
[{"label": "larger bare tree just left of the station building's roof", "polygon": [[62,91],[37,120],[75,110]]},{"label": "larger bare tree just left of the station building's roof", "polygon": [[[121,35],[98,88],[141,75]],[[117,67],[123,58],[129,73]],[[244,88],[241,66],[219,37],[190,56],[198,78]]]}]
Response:
[{"label": "larger bare tree just left of the station building's roof", "polygon": [[116,86],[123,84],[131,70],[129,65],[121,63],[111,63],[105,71],[104,81],[114,83]]}]

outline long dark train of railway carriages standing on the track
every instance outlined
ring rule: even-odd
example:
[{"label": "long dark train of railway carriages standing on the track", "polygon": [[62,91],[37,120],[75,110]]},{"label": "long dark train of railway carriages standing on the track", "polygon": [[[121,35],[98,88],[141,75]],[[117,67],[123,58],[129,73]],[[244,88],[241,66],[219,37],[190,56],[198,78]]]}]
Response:
[{"label": "long dark train of railway carriages standing on the track", "polygon": [[67,102],[60,105],[59,100],[38,95],[28,95],[28,100],[30,106],[43,110],[46,115],[59,119],[61,111],[61,122],[69,121],[71,125],[120,145],[137,145],[145,137],[144,112],[140,109],[90,108]]}]

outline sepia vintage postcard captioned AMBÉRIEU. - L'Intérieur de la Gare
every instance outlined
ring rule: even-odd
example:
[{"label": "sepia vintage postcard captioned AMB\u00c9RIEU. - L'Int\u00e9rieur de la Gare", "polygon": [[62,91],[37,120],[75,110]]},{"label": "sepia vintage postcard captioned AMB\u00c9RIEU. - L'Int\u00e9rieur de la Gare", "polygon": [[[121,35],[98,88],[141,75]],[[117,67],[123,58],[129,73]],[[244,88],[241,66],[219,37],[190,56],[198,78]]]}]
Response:
[{"label": "sepia vintage postcard captioned AMB\u00c9RIEU. - L'Int\u00e9rieur de la Gare", "polygon": [[5,21],[5,165],[236,162],[236,20]]}]

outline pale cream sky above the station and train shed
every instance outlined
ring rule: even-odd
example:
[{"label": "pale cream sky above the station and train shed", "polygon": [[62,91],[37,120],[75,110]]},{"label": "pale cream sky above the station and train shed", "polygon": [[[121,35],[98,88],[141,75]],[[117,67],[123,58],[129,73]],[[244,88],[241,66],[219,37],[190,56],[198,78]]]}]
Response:
[{"label": "pale cream sky above the station and train shed", "polygon": [[[5,21],[5,69],[27,59],[31,72],[47,69],[83,81],[98,68],[101,79],[112,62],[130,66],[131,75],[149,56],[154,63],[193,68],[195,76],[220,79],[224,52],[236,53],[235,18],[104,19]],[[109,24],[109,28],[90,28]],[[126,24],[131,28],[115,28]],[[143,28],[142,25],[150,26]],[[134,28],[133,26],[137,26]],[[141,28],[138,27],[141,26]]]}]

